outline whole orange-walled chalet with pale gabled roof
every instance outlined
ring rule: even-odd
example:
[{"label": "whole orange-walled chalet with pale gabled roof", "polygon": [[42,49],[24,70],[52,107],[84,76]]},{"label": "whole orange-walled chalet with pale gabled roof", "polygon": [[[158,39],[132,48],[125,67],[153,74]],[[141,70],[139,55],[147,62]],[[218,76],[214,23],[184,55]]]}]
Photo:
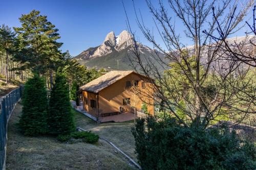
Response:
[{"label": "whole orange-walled chalet with pale gabled roof", "polygon": [[[133,113],[140,110],[143,101],[150,103],[147,110],[154,114],[153,90],[148,79],[134,71],[110,71],[101,77],[80,87],[83,110],[97,118],[122,113]],[[148,92],[151,98],[136,95],[136,91]]]}]

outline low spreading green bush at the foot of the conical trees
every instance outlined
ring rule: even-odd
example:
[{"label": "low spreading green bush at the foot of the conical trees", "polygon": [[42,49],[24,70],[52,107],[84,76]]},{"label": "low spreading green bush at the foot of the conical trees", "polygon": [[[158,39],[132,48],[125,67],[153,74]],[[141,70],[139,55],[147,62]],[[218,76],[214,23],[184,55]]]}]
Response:
[{"label": "low spreading green bush at the foot of the conical trees", "polygon": [[99,140],[99,135],[94,134],[92,132],[73,132],[72,137],[75,139],[82,139],[83,142],[87,143],[96,143]]}]

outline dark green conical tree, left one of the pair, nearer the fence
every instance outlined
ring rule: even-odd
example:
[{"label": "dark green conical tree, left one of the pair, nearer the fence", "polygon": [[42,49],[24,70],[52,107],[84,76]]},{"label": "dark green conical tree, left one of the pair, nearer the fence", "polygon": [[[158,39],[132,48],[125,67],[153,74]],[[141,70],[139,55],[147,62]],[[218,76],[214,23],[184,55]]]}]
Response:
[{"label": "dark green conical tree, left one of the pair, nearer the fence", "polygon": [[47,132],[47,91],[45,82],[34,74],[25,84],[19,127],[25,135],[37,136]]}]

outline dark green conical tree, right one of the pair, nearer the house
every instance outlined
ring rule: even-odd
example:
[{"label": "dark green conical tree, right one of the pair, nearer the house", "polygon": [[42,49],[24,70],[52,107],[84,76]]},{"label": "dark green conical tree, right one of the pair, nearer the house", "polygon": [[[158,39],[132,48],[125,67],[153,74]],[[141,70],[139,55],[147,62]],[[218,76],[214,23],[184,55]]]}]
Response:
[{"label": "dark green conical tree, right one of the pair, nearer the house", "polygon": [[51,134],[69,134],[75,129],[69,86],[65,75],[59,72],[56,74],[55,84],[51,91],[47,118]]}]

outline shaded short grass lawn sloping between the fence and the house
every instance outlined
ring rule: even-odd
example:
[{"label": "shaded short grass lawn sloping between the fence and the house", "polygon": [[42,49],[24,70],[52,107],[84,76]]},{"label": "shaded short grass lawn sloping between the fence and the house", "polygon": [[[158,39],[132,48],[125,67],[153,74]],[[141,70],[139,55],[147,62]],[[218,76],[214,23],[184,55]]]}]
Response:
[{"label": "shaded short grass lawn sloping between the fence and the house", "polygon": [[[79,141],[71,144],[58,142],[51,136],[24,136],[16,125],[21,110],[22,105],[17,104],[8,124],[7,169],[135,169],[103,140],[99,140],[97,144]],[[130,156],[134,156],[134,147],[129,143],[134,143],[131,139],[131,122],[96,124],[80,113],[74,114],[77,126],[102,135],[124,152],[127,149],[126,153],[131,154]]]}]

